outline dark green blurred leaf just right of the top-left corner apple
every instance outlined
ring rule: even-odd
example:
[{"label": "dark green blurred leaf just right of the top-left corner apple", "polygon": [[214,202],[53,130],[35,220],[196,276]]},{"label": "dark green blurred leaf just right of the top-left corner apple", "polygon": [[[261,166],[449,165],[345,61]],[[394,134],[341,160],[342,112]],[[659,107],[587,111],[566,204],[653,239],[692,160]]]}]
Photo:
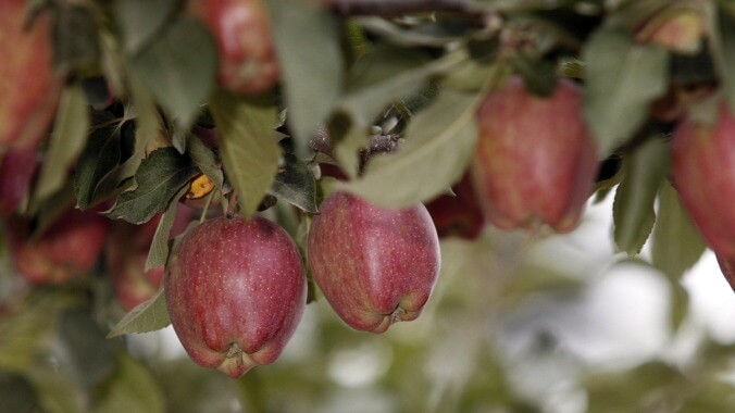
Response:
[{"label": "dark green blurred leaf just right of the top-left corner apple", "polygon": [[[64,3],[65,4],[65,3]],[[97,66],[100,45],[95,16],[88,8],[62,5],[53,20],[53,66],[68,74]]]}]

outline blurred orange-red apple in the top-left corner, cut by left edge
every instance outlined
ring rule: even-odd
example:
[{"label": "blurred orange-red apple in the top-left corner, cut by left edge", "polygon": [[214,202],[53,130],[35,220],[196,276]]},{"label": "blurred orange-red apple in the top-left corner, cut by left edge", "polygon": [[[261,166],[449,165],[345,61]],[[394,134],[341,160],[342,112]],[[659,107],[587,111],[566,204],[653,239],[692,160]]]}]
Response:
[{"label": "blurred orange-red apple in the top-left corner, cut by left edge", "polygon": [[62,82],[53,73],[50,22],[26,29],[25,0],[0,2],[0,154],[35,146],[55,114]]}]

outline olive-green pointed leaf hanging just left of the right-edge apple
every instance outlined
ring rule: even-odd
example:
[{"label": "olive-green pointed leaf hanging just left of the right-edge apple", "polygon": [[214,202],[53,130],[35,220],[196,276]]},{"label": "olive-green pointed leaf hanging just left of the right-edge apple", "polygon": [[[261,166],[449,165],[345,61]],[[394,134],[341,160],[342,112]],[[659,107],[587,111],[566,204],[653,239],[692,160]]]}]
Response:
[{"label": "olive-green pointed leaf hanging just left of the right-edge apple", "polygon": [[684,272],[699,261],[706,249],[676,190],[671,185],[664,185],[659,192],[659,213],[653,228],[653,265],[677,283]]}]

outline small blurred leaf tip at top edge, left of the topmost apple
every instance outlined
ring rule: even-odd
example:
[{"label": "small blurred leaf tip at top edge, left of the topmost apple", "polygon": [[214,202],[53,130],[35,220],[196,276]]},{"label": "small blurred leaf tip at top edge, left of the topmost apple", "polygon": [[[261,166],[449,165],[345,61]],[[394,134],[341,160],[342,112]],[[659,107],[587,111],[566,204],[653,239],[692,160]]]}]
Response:
[{"label": "small blurred leaf tip at top edge, left of the topmost apple", "polygon": [[176,0],[116,0],[114,16],[123,33],[125,51],[136,53],[164,28]]}]

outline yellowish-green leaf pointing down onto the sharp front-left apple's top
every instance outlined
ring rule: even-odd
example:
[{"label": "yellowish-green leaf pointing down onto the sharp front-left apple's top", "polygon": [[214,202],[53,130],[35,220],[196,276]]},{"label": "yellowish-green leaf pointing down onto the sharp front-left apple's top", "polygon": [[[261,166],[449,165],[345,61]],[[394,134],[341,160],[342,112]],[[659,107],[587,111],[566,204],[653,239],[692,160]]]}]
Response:
[{"label": "yellowish-green leaf pointing down onto the sharp front-left apple's top", "polygon": [[237,190],[240,212],[250,217],[271,189],[278,170],[281,147],[273,127],[277,111],[257,98],[217,92],[210,102],[217,124],[220,157]]}]

